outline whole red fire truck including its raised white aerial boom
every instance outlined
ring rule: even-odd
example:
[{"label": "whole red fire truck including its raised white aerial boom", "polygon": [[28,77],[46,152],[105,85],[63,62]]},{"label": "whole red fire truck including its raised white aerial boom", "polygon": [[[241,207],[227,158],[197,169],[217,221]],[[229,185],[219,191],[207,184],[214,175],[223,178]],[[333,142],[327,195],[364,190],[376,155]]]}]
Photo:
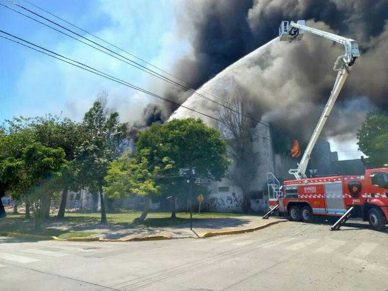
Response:
[{"label": "whole red fire truck including its raised white aerial boom", "polygon": [[315,143],[333,109],[339,92],[346,81],[352,65],[360,56],[357,42],[333,33],[324,32],[305,25],[304,20],[296,23],[282,21],[279,27],[280,41],[294,42],[310,32],[345,47],[345,54],[338,57],[334,71],[338,72],[333,90],[314,129],[297,169],[289,170],[295,177],[280,186],[273,173],[267,174],[269,205],[267,218],[278,210],[287,214],[292,221],[311,222],[315,216],[325,215],[337,222],[332,230],[339,227],[350,217],[361,217],[369,221],[377,230],[382,230],[388,221],[388,168],[366,170],[362,176],[332,176],[307,178],[306,169]]}]

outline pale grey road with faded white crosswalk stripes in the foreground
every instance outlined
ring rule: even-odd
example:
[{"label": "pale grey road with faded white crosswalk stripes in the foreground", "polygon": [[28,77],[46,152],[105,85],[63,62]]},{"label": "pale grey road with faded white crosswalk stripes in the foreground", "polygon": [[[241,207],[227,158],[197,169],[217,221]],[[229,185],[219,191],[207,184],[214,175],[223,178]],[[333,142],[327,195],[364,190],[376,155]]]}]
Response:
[{"label": "pale grey road with faded white crosswalk stripes in the foreground", "polygon": [[388,231],[284,222],[152,242],[0,238],[0,290],[388,290]]}]

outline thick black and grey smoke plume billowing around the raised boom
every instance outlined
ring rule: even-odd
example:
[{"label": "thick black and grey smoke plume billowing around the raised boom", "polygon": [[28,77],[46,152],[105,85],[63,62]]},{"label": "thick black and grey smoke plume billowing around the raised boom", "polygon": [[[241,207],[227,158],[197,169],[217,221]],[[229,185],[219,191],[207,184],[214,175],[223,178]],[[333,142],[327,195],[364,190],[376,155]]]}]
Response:
[{"label": "thick black and grey smoke plume billowing around the raised boom", "polygon": [[[353,135],[367,111],[388,108],[387,0],[193,0],[177,11],[179,32],[189,35],[192,51],[176,62],[174,74],[195,89],[218,74],[202,89],[220,98],[228,76],[234,76],[253,102],[249,113],[275,127],[309,138],[334,84],[334,61],[343,54],[339,45],[311,35],[296,44],[265,45],[277,37],[282,20],[306,19],[310,26],[356,39],[361,48],[326,136]],[[171,87],[165,91],[180,102],[190,96]],[[206,113],[217,110],[197,96],[185,104]],[[176,110],[163,109],[165,116]],[[193,113],[180,108],[173,116],[186,115]]]}]

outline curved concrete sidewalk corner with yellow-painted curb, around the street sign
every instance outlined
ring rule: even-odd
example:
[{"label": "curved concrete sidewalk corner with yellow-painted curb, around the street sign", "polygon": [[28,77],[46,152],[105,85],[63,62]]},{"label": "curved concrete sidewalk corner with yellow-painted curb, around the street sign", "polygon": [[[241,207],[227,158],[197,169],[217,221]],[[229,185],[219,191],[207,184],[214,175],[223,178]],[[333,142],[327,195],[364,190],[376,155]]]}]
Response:
[{"label": "curved concrete sidewalk corner with yellow-painted curb, around the street sign", "polygon": [[231,232],[241,233],[254,231],[256,228],[266,227],[278,222],[285,221],[282,218],[262,219],[261,216],[238,216],[226,218],[210,218],[202,220],[193,220],[193,230],[190,230],[190,223],[179,224],[166,227],[133,227],[112,231],[111,229],[90,229],[90,231],[99,232],[98,237],[103,239],[131,239],[135,237],[147,236],[166,236],[170,238],[200,238],[204,234],[212,236],[209,233]]}]

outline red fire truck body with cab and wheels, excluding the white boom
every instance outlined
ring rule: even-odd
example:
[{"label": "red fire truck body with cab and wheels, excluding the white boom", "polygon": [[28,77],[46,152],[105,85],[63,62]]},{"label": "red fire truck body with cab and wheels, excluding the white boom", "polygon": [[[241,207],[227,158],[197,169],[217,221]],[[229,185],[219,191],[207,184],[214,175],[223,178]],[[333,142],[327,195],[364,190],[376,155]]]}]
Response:
[{"label": "red fire truck body with cab and wheels, excluding the white boom", "polygon": [[[269,173],[271,174],[271,173]],[[369,221],[376,230],[388,222],[388,168],[369,169],[362,176],[333,176],[271,181],[269,205],[292,221],[312,222],[316,216],[338,220],[353,207],[352,217]]]}]

